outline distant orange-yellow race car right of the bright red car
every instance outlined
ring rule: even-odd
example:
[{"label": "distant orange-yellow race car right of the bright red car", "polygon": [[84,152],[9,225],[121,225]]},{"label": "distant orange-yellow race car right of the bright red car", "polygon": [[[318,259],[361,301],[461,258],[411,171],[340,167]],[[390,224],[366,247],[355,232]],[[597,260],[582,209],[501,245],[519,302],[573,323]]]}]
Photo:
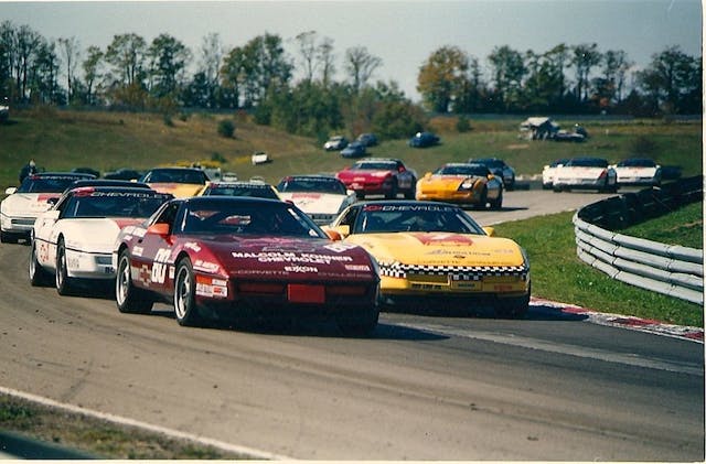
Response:
[{"label": "distant orange-yellow race car right of the bright red car", "polygon": [[417,182],[417,199],[448,202],[493,209],[503,207],[503,181],[488,166],[447,163]]}]

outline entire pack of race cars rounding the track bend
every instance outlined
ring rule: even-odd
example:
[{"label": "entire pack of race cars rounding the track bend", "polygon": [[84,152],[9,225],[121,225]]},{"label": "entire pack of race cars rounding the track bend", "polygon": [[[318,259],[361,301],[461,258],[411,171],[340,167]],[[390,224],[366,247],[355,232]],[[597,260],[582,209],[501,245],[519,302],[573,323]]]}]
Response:
[{"label": "entire pack of race cars rounding the track bend", "polygon": [[[576,164],[584,173],[612,169]],[[631,181],[645,177],[632,164],[649,163],[627,164]],[[618,185],[614,173],[603,177],[570,185]],[[420,304],[527,312],[525,250],[462,208],[502,207],[502,176],[486,166],[448,163],[417,180],[400,160],[367,159],[336,176],[289,175],[277,187],[210,182],[183,168],[142,179],[39,173],[9,188],[2,241],[29,239],[30,283],[66,295],[114,282],[120,312],[167,303],[181,325],[314,316],[365,335],[381,311]],[[555,190],[567,183],[561,166],[553,179]],[[373,193],[385,199],[363,199]]]}]

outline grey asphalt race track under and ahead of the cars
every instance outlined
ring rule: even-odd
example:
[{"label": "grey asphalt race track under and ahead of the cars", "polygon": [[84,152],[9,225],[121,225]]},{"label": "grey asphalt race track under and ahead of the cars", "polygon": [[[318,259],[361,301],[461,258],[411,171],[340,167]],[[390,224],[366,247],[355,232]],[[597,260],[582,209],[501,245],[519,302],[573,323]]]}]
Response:
[{"label": "grey asphalt race track under and ahead of the cars", "polygon": [[[483,225],[597,194],[507,192]],[[0,245],[0,387],[301,460],[703,461],[704,345],[541,303],[522,321],[384,313],[335,327],[180,327],[167,306],[30,287]],[[90,293],[90,294],[88,294]],[[261,452],[257,454],[257,452]]]}]

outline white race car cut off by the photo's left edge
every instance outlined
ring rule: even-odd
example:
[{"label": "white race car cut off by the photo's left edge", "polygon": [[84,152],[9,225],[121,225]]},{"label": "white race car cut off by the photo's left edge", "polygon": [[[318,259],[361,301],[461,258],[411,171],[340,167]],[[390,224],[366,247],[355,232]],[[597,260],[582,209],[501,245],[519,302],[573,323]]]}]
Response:
[{"label": "white race car cut off by the photo's left edge", "polygon": [[81,179],[94,176],[45,172],[29,175],[19,187],[6,190],[9,196],[0,203],[0,241],[17,244],[21,238],[29,239],[36,216],[51,208],[50,202],[58,198],[68,185]]}]

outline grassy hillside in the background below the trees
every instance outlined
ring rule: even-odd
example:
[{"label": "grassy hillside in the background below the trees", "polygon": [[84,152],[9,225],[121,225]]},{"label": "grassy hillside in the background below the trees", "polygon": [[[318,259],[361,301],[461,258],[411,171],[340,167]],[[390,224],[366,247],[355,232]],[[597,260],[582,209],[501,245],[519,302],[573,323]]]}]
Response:
[{"label": "grassy hillside in the background below the trees", "polygon": [[[218,122],[235,121],[235,136],[218,136]],[[384,140],[370,150],[373,157],[404,160],[419,175],[445,162],[496,155],[518,174],[539,174],[544,164],[557,158],[591,154],[619,161],[634,154],[635,147],[648,148],[649,155],[662,164],[680,165],[684,175],[703,172],[702,123],[661,121],[587,121],[590,139],[586,143],[527,141],[517,138],[524,117],[473,120],[472,130],[456,131],[456,118],[437,117],[430,129],[442,143],[429,149],[411,149],[406,140]],[[558,120],[565,127],[571,120]],[[347,134],[350,137],[355,134]],[[639,143],[640,141],[649,143]],[[194,114],[185,121],[164,123],[161,115],[122,112],[78,112],[40,108],[12,115],[0,126],[0,186],[17,185],[22,165],[34,159],[46,170],[90,166],[100,172],[118,168],[147,170],[180,161],[223,158],[225,171],[240,179],[261,175],[276,184],[295,173],[335,172],[351,164],[338,152],[325,152],[308,138],[295,137],[250,122],[242,115]],[[271,163],[254,166],[250,155],[261,150]]]}]

